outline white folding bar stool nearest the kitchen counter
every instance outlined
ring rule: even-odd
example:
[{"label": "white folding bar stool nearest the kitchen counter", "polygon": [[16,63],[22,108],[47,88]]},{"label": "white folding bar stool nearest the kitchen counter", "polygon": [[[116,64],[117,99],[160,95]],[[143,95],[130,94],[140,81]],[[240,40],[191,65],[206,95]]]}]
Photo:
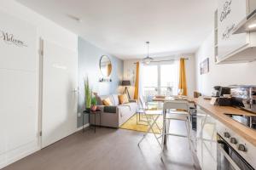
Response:
[{"label": "white folding bar stool nearest the kitchen counter", "polygon": [[[178,111],[178,110],[182,110],[182,111]],[[162,144],[161,144],[163,150],[164,150],[164,146],[166,145],[167,136],[169,135],[188,138],[189,149],[191,149],[190,119],[189,119],[188,110],[189,110],[189,104],[186,100],[173,100],[173,101],[167,101],[164,103],[163,131],[162,131],[163,134],[162,134]],[[171,120],[185,122],[187,135],[169,133]]]}]

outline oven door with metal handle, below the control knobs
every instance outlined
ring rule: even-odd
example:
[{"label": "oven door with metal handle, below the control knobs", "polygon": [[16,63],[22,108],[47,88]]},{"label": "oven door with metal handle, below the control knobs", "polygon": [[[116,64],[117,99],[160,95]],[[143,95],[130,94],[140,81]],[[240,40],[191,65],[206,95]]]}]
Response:
[{"label": "oven door with metal handle, below the control knobs", "polygon": [[218,170],[254,170],[237,151],[217,134],[217,169]]}]

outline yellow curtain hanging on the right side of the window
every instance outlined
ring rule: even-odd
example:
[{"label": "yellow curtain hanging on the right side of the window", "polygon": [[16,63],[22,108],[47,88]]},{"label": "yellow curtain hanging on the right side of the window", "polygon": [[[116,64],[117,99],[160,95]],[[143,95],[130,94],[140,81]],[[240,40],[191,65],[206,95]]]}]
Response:
[{"label": "yellow curtain hanging on the right side of the window", "polygon": [[188,95],[187,80],[186,80],[186,65],[185,59],[179,60],[179,84],[178,88],[183,90],[183,95]]}]

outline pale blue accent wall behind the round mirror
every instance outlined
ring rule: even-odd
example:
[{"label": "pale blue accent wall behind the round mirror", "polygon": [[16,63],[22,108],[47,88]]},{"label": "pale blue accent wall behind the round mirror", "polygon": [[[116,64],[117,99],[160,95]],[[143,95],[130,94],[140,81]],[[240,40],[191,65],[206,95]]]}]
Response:
[{"label": "pale blue accent wall behind the round mirror", "polygon": [[[89,77],[90,87],[98,95],[117,94],[119,81],[123,78],[124,61],[97,48],[90,42],[79,37],[79,102],[78,112],[84,111],[84,78]],[[112,63],[110,78],[112,82],[99,82],[102,77],[100,71],[100,59],[102,55],[108,55]],[[78,127],[82,126],[83,116],[78,117]],[[88,117],[84,116],[84,124],[88,123]]]}]

